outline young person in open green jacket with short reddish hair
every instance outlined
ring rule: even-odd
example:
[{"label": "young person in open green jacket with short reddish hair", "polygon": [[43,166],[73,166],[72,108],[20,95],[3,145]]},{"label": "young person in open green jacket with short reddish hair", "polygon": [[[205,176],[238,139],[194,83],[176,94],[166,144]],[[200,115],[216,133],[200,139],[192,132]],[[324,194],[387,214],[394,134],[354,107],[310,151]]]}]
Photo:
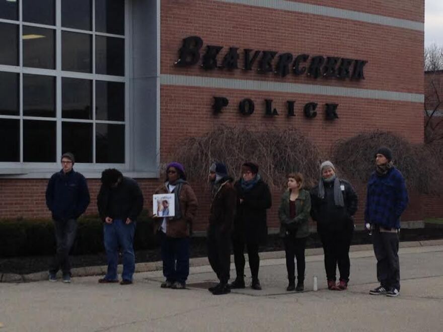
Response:
[{"label": "young person in open green jacket with short reddish hair", "polygon": [[[280,236],[284,240],[286,252],[286,269],[289,285],[287,291],[304,290],[305,281],[305,247],[309,235],[308,218],[311,211],[311,196],[303,189],[303,175],[291,173],[287,176],[287,190],[281,196],[278,218],[280,219]],[[297,259],[297,287],[294,257]]]}]

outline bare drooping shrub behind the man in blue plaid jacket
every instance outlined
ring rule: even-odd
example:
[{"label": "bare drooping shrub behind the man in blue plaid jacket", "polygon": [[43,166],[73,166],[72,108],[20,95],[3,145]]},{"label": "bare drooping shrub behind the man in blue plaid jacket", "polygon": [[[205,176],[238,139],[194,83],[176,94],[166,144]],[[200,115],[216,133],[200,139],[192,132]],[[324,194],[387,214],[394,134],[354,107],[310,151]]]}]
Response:
[{"label": "bare drooping shrub behind the man in blue plaid jacket", "polygon": [[[372,131],[339,140],[334,149],[334,160],[344,175],[362,183],[375,170],[375,154],[380,146],[393,152],[394,165],[401,171],[408,187],[420,193],[441,191],[439,158],[441,147],[412,144],[390,132]],[[439,154],[438,154],[439,153]]]}]

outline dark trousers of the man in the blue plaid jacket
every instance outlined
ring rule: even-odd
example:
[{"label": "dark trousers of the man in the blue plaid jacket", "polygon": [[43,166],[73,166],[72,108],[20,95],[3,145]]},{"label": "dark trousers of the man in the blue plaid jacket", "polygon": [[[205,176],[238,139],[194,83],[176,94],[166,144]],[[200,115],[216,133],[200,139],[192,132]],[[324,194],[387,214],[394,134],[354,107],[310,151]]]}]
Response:
[{"label": "dark trousers of the man in the blue plaid jacket", "polygon": [[398,259],[398,233],[373,229],[372,240],[377,258],[377,280],[386,289],[400,290],[400,261]]}]

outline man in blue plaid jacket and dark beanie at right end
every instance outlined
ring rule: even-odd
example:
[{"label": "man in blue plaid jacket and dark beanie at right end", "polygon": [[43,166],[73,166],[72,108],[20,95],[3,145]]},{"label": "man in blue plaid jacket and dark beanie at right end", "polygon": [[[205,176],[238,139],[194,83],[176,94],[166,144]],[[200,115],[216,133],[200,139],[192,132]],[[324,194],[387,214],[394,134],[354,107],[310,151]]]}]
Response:
[{"label": "man in blue plaid jacket and dark beanie at right end", "polygon": [[366,228],[372,229],[380,286],[370,293],[395,297],[400,294],[398,232],[408,192],[402,174],[393,165],[392,151],[380,147],[375,157],[377,169],[367,183],[364,220]]}]

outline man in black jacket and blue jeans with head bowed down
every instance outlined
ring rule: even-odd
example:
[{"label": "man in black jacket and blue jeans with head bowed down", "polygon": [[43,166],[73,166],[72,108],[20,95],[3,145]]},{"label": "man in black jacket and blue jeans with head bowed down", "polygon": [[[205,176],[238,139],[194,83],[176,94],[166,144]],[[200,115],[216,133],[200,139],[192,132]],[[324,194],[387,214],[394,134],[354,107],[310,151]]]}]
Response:
[{"label": "man in black jacket and blue jeans with head bowed down", "polygon": [[143,208],[143,195],[135,180],[123,177],[116,169],[102,172],[102,186],[97,197],[100,218],[104,221],[103,234],[108,272],[99,283],[118,282],[118,247],[123,253],[121,285],[132,284],[135,270],[133,240],[135,221]]}]

